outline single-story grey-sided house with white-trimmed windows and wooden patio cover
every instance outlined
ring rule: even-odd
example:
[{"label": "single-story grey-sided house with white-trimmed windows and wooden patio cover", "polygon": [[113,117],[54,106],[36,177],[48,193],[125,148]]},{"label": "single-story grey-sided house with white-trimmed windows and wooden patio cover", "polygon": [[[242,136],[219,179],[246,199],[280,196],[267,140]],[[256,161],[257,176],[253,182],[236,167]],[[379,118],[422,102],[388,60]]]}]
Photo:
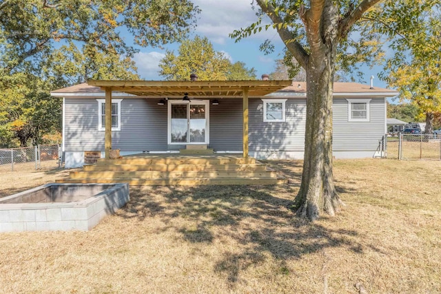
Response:
[{"label": "single-story grey-sided house with white-trimmed windows and wooden patio cover", "polygon": [[[375,156],[387,133],[386,99],[397,94],[334,83],[336,158]],[[173,154],[198,145],[258,159],[304,154],[306,83],[88,81],[51,95],[63,98],[65,167],[83,166],[88,151],[104,157],[110,149],[120,149],[121,156]]]}]

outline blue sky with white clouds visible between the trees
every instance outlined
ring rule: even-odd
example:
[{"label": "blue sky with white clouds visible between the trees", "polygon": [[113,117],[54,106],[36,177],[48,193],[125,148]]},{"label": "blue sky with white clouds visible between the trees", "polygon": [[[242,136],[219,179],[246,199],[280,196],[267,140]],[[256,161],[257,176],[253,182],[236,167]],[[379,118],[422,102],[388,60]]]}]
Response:
[{"label": "blue sky with white clouds visible between the trees", "polygon": [[[280,41],[275,30],[262,31],[258,34],[243,39],[235,43],[228,34],[239,28],[256,21],[256,15],[252,10],[250,0],[194,0],[201,14],[198,14],[198,22],[192,36],[206,36],[212,42],[214,50],[224,52],[232,62],[242,61],[248,68],[254,67],[258,77],[262,74],[269,74],[274,71],[275,59],[280,59],[283,52],[283,42]],[[190,37],[192,37],[190,36]],[[260,52],[259,45],[270,39],[275,45],[273,54],[265,55]],[[165,45],[165,49],[174,50],[177,54],[179,43]],[[164,57],[165,49],[159,48],[140,48],[134,60],[138,67],[138,72],[146,80],[162,80],[158,74],[158,63]],[[374,78],[374,85],[377,87],[387,87],[386,83],[380,81],[377,74],[381,71],[380,67],[363,68],[365,76],[362,83],[369,84],[371,75]]]}]

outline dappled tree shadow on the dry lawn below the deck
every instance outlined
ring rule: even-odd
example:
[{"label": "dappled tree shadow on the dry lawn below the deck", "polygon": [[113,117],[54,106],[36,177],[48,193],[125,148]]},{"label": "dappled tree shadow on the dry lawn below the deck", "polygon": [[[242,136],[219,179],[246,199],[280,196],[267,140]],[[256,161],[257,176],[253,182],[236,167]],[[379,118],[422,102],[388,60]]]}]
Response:
[{"label": "dappled tree shadow on the dry lawn below the deck", "polygon": [[[283,162],[278,165],[278,169],[285,168]],[[286,169],[286,174],[292,173]],[[284,265],[287,258],[301,258],[330,247],[347,246],[362,253],[362,244],[351,238],[358,235],[356,231],[331,230],[297,218],[287,209],[298,185],[300,182],[278,186],[132,187],[131,200],[118,215],[139,221],[161,218],[167,224],[161,230],[175,230],[182,240],[194,244],[231,238],[243,251],[223,252],[214,266],[214,271],[226,274],[230,283],[238,280],[240,271],[264,262],[267,253],[279,261],[284,272],[289,272]],[[173,221],[175,218],[182,221]]]}]

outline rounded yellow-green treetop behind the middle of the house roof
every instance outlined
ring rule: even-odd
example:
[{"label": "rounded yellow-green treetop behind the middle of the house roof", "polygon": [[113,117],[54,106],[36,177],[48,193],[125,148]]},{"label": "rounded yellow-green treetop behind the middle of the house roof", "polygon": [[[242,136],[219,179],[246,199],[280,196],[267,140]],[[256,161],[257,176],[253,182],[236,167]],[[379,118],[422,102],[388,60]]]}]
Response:
[{"label": "rounded yellow-green treetop behind the middle of the house roof", "polygon": [[178,55],[167,51],[160,61],[159,74],[167,81],[189,81],[197,74],[201,81],[232,81],[256,79],[256,70],[247,69],[245,63],[231,63],[223,52],[214,50],[207,37],[187,39],[178,48]]}]

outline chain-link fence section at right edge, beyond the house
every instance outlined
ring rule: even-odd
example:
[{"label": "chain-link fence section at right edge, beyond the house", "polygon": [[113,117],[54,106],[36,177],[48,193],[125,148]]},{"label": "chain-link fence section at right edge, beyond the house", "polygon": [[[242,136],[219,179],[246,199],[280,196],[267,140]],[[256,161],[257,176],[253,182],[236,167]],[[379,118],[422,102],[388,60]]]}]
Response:
[{"label": "chain-link fence section at right edge, beyond the house", "polygon": [[441,160],[441,135],[400,133],[398,159]]}]

